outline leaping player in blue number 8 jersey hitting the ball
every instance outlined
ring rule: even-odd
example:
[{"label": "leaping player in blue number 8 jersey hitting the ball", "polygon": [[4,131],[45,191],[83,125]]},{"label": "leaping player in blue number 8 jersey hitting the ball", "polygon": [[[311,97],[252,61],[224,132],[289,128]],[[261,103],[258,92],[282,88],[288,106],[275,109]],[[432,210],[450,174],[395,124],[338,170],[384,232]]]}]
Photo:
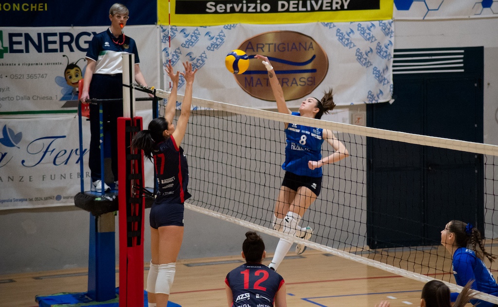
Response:
[{"label": "leaping player in blue number 8 jersey hitting the ball", "polygon": [[[299,107],[299,112],[291,112],[285,102],[282,87],[275,76],[275,71],[267,57],[256,55],[263,61],[268,71],[268,79],[280,113],[320,119],[324,113],[335,107],[332,90],[325,92],[322,99],[306,98]],[[292,123],[285,123],[285,162],[282,168],[285,176],[275,203],[273,229],[295,235],[306,240],[311,238],[313,230],[310,227],[301,228],[299,222],[311,204],[320,195],[322,187],[322,166],[335,163],[349,155],[344,144],[330,130],[313,128]],[[322,144],[327,141],[334,153],[322,157]],[[277,269],[289,251],[292,241],[280,239],[275,249],[270,268]],[[306,249],[303,244],[297,244],[296,253],[301,254]]]}]

